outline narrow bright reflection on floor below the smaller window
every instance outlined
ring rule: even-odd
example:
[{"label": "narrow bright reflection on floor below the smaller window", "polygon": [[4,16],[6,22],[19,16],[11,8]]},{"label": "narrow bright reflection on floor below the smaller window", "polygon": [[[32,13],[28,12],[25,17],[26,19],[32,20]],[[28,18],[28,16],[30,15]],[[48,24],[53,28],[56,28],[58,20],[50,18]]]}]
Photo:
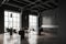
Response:
[{"label": "narrow bright reflection on floor below the smaller window", "polygon": [[37,44],[37,32],[31,31],[29,33],[29,44]]}]

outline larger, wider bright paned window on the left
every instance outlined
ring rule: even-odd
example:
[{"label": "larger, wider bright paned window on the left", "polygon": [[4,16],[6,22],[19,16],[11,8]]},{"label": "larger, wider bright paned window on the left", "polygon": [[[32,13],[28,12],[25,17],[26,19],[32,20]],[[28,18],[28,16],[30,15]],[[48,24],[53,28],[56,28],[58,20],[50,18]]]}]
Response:
[{"label": "larger, wider bright paned window on the left", "polygon": [[4,32],[7,32],[7,28],[20,30],[20,13],[12,11],[4,11]]}]

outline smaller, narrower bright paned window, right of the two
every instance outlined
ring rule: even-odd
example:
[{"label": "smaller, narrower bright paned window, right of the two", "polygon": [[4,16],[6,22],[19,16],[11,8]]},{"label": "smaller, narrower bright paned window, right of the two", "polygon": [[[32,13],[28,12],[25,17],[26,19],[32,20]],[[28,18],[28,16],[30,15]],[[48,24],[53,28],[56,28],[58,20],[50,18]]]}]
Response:
[{"label": "smaller, narrower bright paned window, right of the two", "polygon": [[29,28],[37,30],[37,16],[29,15]]}]

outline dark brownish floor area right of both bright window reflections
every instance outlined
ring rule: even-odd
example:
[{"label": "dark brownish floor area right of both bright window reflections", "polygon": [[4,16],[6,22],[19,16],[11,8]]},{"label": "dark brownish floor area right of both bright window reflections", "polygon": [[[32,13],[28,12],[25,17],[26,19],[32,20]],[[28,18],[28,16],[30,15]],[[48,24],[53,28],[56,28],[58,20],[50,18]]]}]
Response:
[{"label": "dark brownish floor area right of both bright window reflections", "polygon": [[37,38],[37,44],[57,44],[57,36],[51,33],[45,33]]}]

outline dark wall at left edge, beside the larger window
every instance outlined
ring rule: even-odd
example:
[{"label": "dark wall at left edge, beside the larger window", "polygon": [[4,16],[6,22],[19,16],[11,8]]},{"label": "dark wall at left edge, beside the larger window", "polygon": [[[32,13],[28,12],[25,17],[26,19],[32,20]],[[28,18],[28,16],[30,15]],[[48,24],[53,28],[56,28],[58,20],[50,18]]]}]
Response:
[{"label": "dark wall at left edge, beside the larger window", "polygon": [[3,8],[0,7],[0,34],[4,31],[4,11]]}]

